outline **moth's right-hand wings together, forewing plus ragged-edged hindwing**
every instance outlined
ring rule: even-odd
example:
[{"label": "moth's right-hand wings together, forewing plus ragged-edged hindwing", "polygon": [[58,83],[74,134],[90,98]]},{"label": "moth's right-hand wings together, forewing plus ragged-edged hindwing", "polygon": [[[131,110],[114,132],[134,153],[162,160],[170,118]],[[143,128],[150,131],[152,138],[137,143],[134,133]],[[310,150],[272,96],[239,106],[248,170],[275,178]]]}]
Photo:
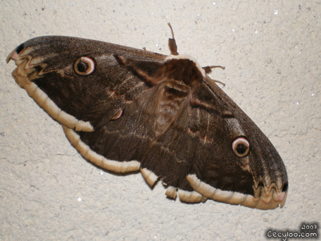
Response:
[{"label": "moth's right-hand wings together, forewing plus ragged-edged hindwing", "polygon": [[[168,196],[178,190],[186,202],[210,198],[259,209],[282,207],[286,169],[266,136],[209,77],[188,99],[180,121],[147,150],[141,164],[145,179],[152,185],[161,178]],[[241,158],[232,148],[239,137],[250,143]]]}]

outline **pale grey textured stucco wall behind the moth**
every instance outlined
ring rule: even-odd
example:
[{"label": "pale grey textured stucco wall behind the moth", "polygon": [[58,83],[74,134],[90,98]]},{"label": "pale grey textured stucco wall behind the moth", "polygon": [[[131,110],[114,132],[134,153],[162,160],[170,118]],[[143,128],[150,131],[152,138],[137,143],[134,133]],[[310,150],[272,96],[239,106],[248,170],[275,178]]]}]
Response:
[{"label": "pale grey textured stucco wall behind the moth", "polygon": [[[1,240],[262,240],[268,228],[320,221],[320,4],[213,2],[0,2]],[[282,209],[181,203],[167,199],[161,183],[151,190],[141,174],[91,165],[15,83],[14,62],[6,64],[16,46],[42,35],[169,54],[168,22],[181,54],[226,66],[211,77],[278,150],[289,178]]]}]

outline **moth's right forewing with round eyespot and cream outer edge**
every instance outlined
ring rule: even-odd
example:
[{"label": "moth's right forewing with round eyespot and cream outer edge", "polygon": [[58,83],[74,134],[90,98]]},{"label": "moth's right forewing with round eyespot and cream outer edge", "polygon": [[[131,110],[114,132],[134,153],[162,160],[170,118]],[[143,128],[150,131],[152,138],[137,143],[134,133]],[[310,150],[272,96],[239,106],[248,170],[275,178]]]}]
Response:
[{"label": "moth's right forewing with round eyespot and cream outer edge", "polygon": [[[193,123],[189,128],[194,140],[204,141],[200,155],[203,159],[191,162],[187,177],[192,187],[217,201],[259,209],[273,209],[279,204],[282,207],[288,181],[279,154],[252,120],[208,77],[203,87],[202,92],[213,94],[217,106],[213,109],[220,110],[211,114],[202,105],[191,110]],[[235,155],[232,148],[239,138],[250,144],[244,157]]]}]

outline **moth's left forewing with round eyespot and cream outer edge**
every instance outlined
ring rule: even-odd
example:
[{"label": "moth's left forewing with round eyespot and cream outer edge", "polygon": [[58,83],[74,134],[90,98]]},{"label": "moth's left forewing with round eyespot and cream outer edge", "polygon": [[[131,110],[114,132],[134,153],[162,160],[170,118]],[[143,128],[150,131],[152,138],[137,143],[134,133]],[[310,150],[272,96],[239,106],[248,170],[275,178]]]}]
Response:
[{"label": "moth's left forewing with round eyespot and cream outer edge", "polygon": [[[16,82],[52,118],[70,129],[92,132],[155,84],[137,74],[135,65],[147,62],[154,70],[165,58],[116,44],[48,36],[21,44],[7,61],[15,60]],[[91,72],[77,71],[82,67]]]}]

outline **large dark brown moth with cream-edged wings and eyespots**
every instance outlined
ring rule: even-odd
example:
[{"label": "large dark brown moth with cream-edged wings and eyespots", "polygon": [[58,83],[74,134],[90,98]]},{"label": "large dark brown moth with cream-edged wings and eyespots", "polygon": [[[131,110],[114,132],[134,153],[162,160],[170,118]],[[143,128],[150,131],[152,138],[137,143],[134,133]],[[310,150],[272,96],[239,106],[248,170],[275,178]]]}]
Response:
[{"label": "large dark brown moth with cream-edged wings and eyespots", "polygon": [[[170,26],[170,24],[169,24]],[[19,45],[16,82],[93,164],[140,171],[183,202],[207,198],[251,208],[285,203],[279,154],[195,59],[95,40],[46,36]],[[223,68],[223,67],[221,67]]]}]

